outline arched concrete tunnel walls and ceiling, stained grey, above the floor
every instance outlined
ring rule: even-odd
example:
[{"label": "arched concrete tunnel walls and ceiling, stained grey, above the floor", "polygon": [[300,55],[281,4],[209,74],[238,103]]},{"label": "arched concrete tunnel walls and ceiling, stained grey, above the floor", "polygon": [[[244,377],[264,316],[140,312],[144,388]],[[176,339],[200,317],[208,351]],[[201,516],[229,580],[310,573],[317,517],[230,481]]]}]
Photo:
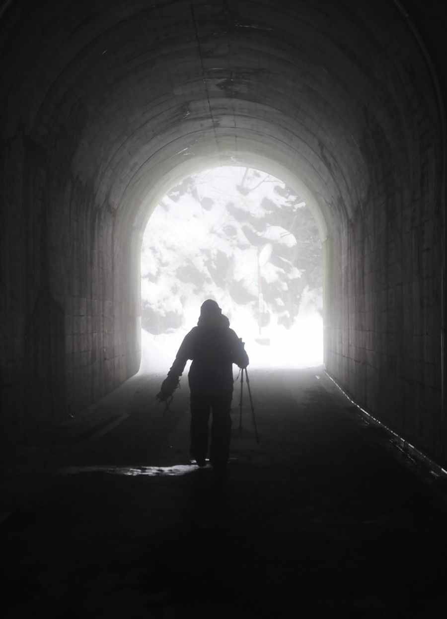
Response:
[{"label": "arched concrete tunnel walls and ceiling, stained grey, above the floor", "polygon": [[137,371],[150,209],[241,163],[318,216],[331,376],[446,462],[446,22],[430,1],[3,2],[3,439]]}]

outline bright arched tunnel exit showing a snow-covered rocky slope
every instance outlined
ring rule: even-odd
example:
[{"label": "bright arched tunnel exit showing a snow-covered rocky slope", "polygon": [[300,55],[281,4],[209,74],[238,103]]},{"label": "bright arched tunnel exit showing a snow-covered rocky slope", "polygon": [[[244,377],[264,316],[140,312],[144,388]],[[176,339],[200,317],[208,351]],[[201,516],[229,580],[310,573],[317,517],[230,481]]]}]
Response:
[{"label": "bright arched tunnel exit showing a snow-covered rocky slope", "polygon": [[321,365],[321,263],[313,217],[276,177],[222,167],[185,179],[144,233],[140,372],[168,371],[207,298],[245,342],[251,367]]}]

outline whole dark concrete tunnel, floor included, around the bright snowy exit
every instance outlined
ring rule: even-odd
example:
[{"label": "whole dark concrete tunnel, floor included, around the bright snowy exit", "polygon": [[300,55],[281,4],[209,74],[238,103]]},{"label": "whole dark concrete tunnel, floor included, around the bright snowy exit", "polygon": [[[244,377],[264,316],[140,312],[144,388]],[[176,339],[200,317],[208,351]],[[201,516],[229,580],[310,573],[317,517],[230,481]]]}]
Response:
[{"label": "whole dark concrete tunnel, floor included, around the bright snowy exit", "polygon": [[[437,0],[0,0],[6,619],[445,613],[446,27]],[[163,196],[227,166],[315,218],[324,365],[250,358],[219,485],[188,388],[139,371],[140,261]]]}]

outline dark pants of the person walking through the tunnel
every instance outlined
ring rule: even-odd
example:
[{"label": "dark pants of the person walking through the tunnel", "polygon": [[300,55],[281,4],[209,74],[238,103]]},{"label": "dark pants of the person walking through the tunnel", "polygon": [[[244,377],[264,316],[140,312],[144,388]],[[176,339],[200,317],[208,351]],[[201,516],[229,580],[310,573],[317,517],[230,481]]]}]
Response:
[{"label": "dark pants of the person walking through the tunnel", "polygon": [[191,457],[201,460],[208,451],[208,420],[212,411],[210,462],[213,467],[227,464],[232,432],[232,392],[222,396],[191,394]]}]

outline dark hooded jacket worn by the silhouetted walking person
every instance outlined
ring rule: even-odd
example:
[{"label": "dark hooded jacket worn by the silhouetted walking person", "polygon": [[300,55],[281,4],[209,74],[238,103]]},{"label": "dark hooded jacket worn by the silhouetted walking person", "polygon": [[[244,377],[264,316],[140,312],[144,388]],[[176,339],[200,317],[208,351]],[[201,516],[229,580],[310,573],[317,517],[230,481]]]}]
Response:
[{"label": "dark hooded jacket worn by the silhouetted walking person", "polygon": [[192,394],[223,395],[233,391],[233,363],[248,365],[248,355],[230,321],[221,313],[201,314],[197,326],[185,335],[168,376],[181,376],[186,361]]}]

